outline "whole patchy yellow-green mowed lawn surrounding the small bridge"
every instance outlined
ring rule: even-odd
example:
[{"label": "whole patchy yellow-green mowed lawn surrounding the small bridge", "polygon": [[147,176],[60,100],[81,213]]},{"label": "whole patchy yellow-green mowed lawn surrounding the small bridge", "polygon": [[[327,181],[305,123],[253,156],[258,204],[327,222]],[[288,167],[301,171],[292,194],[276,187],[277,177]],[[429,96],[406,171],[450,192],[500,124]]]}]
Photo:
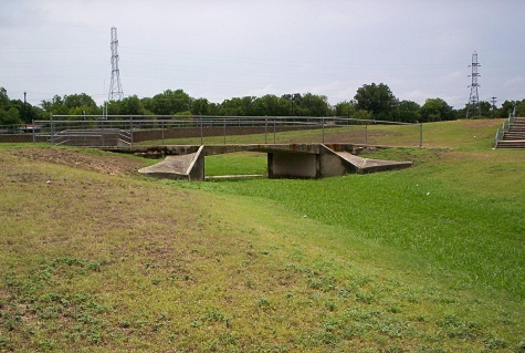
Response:
[{"label": "whole patchy yellow-green mowed lawn surrounding the small bridge", "polygon": [[[492,150],[491,123],[426,124],[424,148],[371,156],[412,168],[321,180],[0,146],[0,351],[525,352],[525,152]],[[265,155],[207,174],[230,163]]]}]

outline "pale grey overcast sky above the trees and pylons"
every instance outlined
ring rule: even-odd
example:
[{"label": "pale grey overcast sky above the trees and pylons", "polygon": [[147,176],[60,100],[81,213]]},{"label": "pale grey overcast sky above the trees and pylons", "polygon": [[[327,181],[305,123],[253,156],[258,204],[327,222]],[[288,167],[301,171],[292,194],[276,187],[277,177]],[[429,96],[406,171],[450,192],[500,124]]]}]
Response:
[{"label": "pale grey overcast sky above the trees and pylons", "polygon": [[181,89],[234,96],[314,93],[330,104],[385,83],[399,100],[525,98],[523,0],[0,0],[0,86],[38,105],[112,76],[117,28],[125,96]]}]

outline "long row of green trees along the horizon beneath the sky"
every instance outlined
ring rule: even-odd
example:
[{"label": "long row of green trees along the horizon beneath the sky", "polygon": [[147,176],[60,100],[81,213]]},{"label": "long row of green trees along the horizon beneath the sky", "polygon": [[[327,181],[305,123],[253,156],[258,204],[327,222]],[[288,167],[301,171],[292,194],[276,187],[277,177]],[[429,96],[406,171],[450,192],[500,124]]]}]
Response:
[{"label": "long row of green trees along the horizon beneath the sky", "polygon": [[[0,87],[0,125],[30,124],[33,120],[48,120],[53,115],[218,115],[218,116],[340,116],[360,120],[427,123],[465,117],[466,106],[454,110],[442,98],[428,98],[423,105],[396,97],[384,83],[364,84],[354,98],[328,103],[325,95],[312,93],[266,94],[243,96],[212,103],[195,98],[182,90],[166,90],[153,97],[127,96],[97,105],[87,94],[55,95],[33,106],[21,100],[10,100]],[[506,117],[516,108],[525,115],[525,100],[505,101],[500,107],[480,102],[481,117]]]}]

